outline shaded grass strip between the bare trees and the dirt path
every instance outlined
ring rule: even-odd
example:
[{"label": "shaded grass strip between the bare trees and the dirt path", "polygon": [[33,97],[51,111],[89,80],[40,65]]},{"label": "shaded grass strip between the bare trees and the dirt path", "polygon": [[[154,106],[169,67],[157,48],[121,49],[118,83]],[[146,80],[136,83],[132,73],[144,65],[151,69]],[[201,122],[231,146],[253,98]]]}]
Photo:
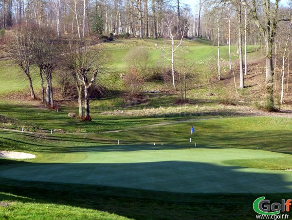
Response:
[{"label": "shaded grass strip between the bare trees and the dirt path", "polygon": [[[191,100],[192,103],[205,103],[208,100]],[[208,101],[210,102],[210,101]],[[172,106],[173,102],[169,106]],[[161,106],[161,103],[157,105],[157,109]],[[164,112],[163,110],[154,109],[154,113],[145,114],[148,109],[152,109],[153,105],[147,106],[134,106],[130,108],[120,107],[96,107],[92,108],[91,122],[83,122],[80,120],[72,119],[67,116],[67,112],[70,111],[69,107],[62,106],[63,111],[56,112],[48,109],[38,109],[32,106],[12,105],[12,104],[0,104],[1,114],[7,115],[12,118],[20,120],[19,123],[29,125],[34,129],[44,129],[49,132],[51,129],[63,129],[64,131],[76,131],[82,130],[86,132],[101,132],[118,130],[124,128],[131,128],[137,126],[143,126],[147,124],[161,123],[165,119],[179,120],[185,117],[214,117],[214,116],[250,116],[249,113],[238,113],[229,110],[214,110],[214,111],[179,111],[179,112]],[[129,111],[128,115],[100,115],[104,111],[113,111],[115,109]],[[131,115],[131,110],[140,110],[141,115]],[[165,110],[168,111],[168,110]]]}]

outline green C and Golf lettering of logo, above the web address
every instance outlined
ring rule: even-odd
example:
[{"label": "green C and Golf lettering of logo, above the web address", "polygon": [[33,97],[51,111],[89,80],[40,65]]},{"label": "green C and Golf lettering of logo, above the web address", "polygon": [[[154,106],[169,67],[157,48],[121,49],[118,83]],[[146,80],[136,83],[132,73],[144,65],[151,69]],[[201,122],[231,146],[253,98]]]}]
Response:
[{"label": "green C and Golf lettering of logo, above the web address", "polygon": [[265,200],[265,197],[260,197],[254,201],[253,208],[256,213],[261,215],[278,215],[280,211],[289,212],[292,200],[281,200],[281,203],[270,200]]}]

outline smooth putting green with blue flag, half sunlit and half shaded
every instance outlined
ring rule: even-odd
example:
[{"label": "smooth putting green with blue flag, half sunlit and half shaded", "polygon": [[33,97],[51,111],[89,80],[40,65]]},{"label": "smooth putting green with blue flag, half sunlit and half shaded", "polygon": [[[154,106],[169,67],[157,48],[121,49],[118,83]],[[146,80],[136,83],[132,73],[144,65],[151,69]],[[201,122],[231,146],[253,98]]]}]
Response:
[{"label": "smooth putting green with blue flag, half sunlit and half shaded", "polygon": [[17,167],[12,164],[3,166],[0,176],[181,193],[292,192],[292,172],[223,163],[224,160],[284,157],[269,151],[119,145],[76,148],[68,154],[80,154],[82,160]]}]

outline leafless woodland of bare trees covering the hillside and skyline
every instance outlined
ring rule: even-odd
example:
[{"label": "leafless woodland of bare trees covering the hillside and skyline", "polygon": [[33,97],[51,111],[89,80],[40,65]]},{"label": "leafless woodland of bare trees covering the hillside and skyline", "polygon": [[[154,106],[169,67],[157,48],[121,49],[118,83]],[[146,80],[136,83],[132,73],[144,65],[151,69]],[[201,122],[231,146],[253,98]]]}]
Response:
[{"label": "leafless woodland of bare trees covering the hillside and skyline", "polygon": [[[48,107],[54,108],[54,83],[63,89],[63,96],[69,94],[71,86],[70,90],[75,91],[74,98],[78,97],[79,117],[84,120],[91,120],[91,86],[99,93],[107,93],[105,87],[96,83],[100,73],[112,72],[105,70],[109,62],[106,43],[134,39],[166,41],[165,45],[154,43],[161,51],[160,57],[155,58],[156,64],[149,65],[153,60],[143,41],[137,41],[136,52],[125,55],[128,69],[119,74],[129,97],[139,97],[141,92],[135,89],[150,78],[153,80],[154,72],[159,72],[164,81],[168,78],[183,103],[191,98],[187,98],[189,90],[194,90],[189,84],[208,83],[210,87],[213,76],[218,82],[233,76],[232,87],[235,86],[238,95],[238,90],[249,87],[245,83],[251,71],[249,68],[259,61],[251,58],[249,65],[250,47],[254,51],[260,50],[256,56],[265,57],[264,63],[259,61],[265,68],[265,79],[260,82],[265,87],[261,91],[266,97],[263,109],[277,111],[279,107],[275,107],[274,99],[277,104],[283,104],[285,94],[289,94],[291,25],[291,2],[280,0],[200,0],[193,5],[180,0],[0,1],[1,58],[11,60],[21,68],[28,80],[32,100],[36,95],[30,69],[37,66],[41,102]],[[213,61],[209,60],[207,64],[212,63],[210,73],[204,73],[206,68],[198,68],[186,50],[187,42],[200,40],[217,47],[209,58]],[[221,54],[225,47],[228,47],[226,60],[222,58],[226,54]],[[237,48],[236,54],[232,53],[234,48]],[[224,71],[229,75],[224,76]],[[71,81],[65,73],[67,76],[69,73]],[[196,82],[195,78],[204,78],[205,82]]]}]

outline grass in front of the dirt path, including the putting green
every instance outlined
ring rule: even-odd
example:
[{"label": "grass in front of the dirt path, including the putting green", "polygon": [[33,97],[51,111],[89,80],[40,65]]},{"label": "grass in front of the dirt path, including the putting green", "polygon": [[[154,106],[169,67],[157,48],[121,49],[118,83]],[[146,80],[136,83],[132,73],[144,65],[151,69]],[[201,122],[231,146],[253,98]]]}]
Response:
[{"label": "grass in front of the dirt path, including the putting green", "polygon": [[[292,168],[290,124],[290,119],[279,117],[178,121],[87,134],[86,139],[83,134],[0,131],[2,149],[37,155],[0,159],[0,200],[11,203],[2,210],[10,218],[21,209],[33,209],[32,204],[36,210],[53,204],[51,215],[65,209],[72,219],[72,206],[81,216],[92,212],[108,219],[118,218],[103,217],[109,213],[134,219],[255,218],[252,203],[258,197],[276,202],[291,195],[292,173],[284,171]],[[197,147],[187,142],[191,125]],[[139,144],[108,145],[133,137]],[[163,146],[159,140],[165,141]],[[151,210],[156,212],[149,215]]]}]

